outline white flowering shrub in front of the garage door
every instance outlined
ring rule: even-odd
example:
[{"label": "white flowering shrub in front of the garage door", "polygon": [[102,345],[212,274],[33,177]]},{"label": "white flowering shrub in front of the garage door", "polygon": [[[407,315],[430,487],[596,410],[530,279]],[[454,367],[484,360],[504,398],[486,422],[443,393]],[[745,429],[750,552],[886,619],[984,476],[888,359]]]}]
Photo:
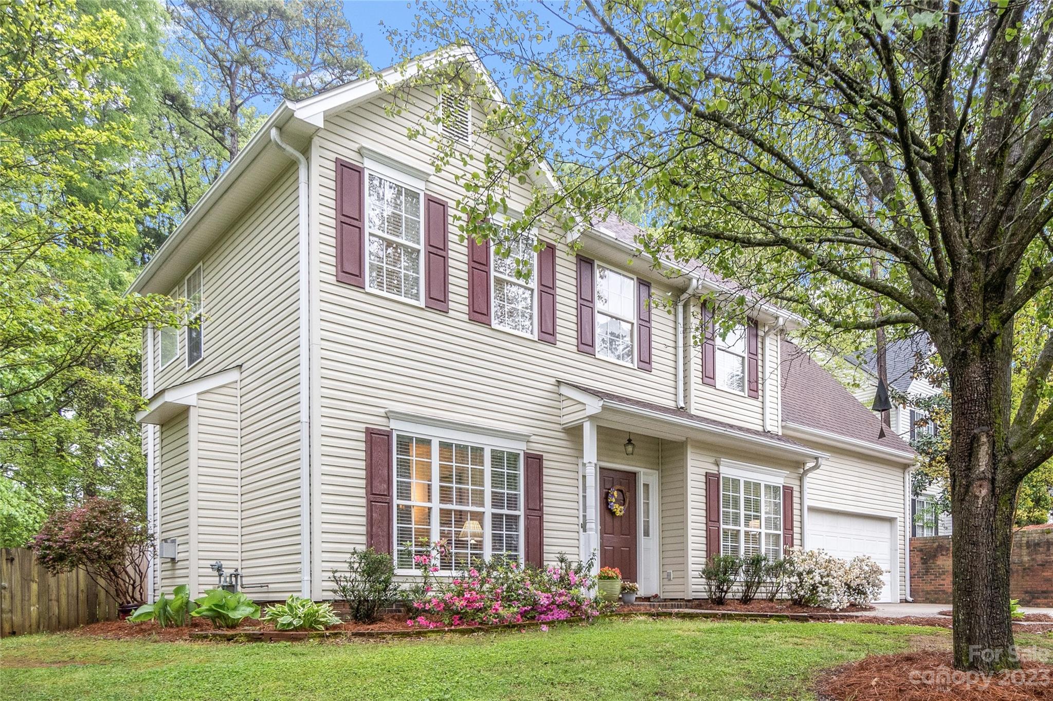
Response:
[{"label": "white flowering shrub in front of the garage door", "polygon": [[881,593],[882,570],[867,556],[847,562],[821,550],[787,552],[782,586],[790,601],[840,611],[866,605]]}]

